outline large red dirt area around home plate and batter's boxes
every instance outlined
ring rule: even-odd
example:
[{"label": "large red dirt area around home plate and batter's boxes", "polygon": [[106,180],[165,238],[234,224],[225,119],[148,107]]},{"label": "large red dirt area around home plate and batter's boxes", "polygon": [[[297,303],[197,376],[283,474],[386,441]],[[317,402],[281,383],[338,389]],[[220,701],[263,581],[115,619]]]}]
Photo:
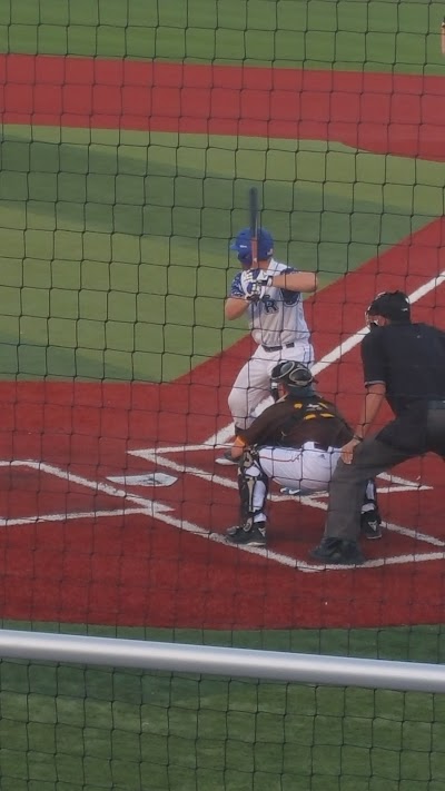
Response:
[{"label": "large red dirt area around home plate and batter's boxes", "polygon": [[[333,347],[327,306],[344,305],[350,337],[383,280],[413,293],[442,271],[444,231],[445,220],[431,224],[406,240],[408,256],[392,250],[308,301],[322,363]],[[444,303],[443,286],[432,289],[415,317],[431,319],[433,308],[436,317]],[[1,384],[2,617],[202,629],[442,620],[443,472],[434,458],[403,465],[393,483],[379,481],[389,528],[382,541],[364,542],[369,567],[310,567],[323,498],[315,507],[279,496],[270,504],[267,556],[224,543],[237,518],[235,472],[216,465],[205,442],[229,423],[227,392],[248,343],[168,385]],[[339,401],[353,418],[358,346],[318,380],[325,395],[348,382]],[[147,487],[108,479],[142,473],[177,481]]]}]

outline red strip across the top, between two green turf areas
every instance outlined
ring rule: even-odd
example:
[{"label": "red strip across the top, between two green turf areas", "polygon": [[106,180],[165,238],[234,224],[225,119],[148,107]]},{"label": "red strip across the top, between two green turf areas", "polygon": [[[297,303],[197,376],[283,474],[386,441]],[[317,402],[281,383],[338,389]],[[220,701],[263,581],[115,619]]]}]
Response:
[{"label": "red strip across the top, between two green turf areas", "polygon": [[443,161],[443,77],[0,56],[2,123],[337,140]]}]

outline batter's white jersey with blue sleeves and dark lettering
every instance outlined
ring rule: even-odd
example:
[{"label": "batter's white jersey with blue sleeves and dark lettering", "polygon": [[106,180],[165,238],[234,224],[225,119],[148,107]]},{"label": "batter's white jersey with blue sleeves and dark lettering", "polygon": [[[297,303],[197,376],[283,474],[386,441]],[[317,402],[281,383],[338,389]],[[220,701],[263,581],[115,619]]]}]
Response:
[{"label": "batter's white jersey with blue sleeves and dark lettering", "polygon": [[[283,275],[298,271],[274,258],[264,270],[265,275]],[[243,271],[231,284],[230,297],[244,298],[241,287]],[[271,286],[267,295],[249,306],[249,329],[257,344],[266,347],[285,346],[296,343],[298,346],[310,344],[310,333],[306,324],[300,291],[290,291]]]}]

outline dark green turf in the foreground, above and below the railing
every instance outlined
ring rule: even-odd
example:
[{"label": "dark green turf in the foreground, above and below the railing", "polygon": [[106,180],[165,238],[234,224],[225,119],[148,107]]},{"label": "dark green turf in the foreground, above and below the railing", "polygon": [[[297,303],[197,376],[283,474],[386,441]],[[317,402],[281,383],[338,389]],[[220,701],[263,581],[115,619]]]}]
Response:
[{"label": "dark green turf in the foreground, above and below the railing", "polygon": [[[3,623],[4,627],[30,624]],[[208,632],[33,624],[443,662],[441,626]],[[439,791],[443,696],[3,661],[2,791]]]}]

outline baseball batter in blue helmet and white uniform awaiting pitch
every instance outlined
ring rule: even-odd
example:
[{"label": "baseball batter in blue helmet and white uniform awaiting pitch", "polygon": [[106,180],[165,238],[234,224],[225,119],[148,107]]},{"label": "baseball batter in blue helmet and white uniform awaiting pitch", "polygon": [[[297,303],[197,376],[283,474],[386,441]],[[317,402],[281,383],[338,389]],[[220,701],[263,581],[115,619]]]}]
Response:
[{"label": "baseball batter in blue helmet and white uniform awaiting pitch", "polygon": [[[248,315],[257,344],[239,372],[228,398],[235,435],[247,428],[255,408],[270,394],[270,373],[281,359],[314,364],[314,349],[306,324],[301,294],[315,291],[317,275],[298,271],[274,258],[274,239],[266,228],[258,230],[257,266],[251,268],[251,234],[244,228],[230,249],[241,264],[225,304],[228,320]],[[230,453],[225,454],[230,463]],[[221,461],[221,459],[219,459]]]}]

